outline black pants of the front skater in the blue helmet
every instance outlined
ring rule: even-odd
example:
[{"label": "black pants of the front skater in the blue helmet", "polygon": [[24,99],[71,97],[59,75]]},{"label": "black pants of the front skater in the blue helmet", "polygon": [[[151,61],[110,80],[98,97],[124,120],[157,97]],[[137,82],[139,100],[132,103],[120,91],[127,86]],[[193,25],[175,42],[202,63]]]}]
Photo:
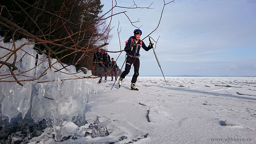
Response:
[{"label": "black pants of the front skater in the blue helmet", "polygon": [[127,57],[124,71],[120,77],[124,78],[125,76],[127,76],[129,74],[132,64],[133,64],[133,68],[134,68],[134,74],[132,76],[131,82],[136,83],[137,77],[139,76],[140,59]]}]

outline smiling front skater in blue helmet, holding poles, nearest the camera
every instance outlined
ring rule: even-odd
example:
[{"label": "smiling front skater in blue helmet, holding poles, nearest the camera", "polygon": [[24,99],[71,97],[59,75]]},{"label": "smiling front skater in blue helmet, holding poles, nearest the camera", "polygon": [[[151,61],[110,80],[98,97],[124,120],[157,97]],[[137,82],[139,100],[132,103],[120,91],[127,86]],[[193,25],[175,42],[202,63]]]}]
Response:
[{"label": "smiling front skater in blue helmet, holding poles, nearest the camera", "polygon": [[127,41],[124,51],[126,52],[126,64],[123,73],[121,74],[118,84],[119,87],[122,84],[122,80],[125,78],[126,75],[129,74],[131,66],[133,64],[134,67],[134,74],[132,76],[132,84],[131,90],[139,90],[135,83],[137,81],[137,77],[139,76],[139,68],[140,68],[140,49],[143,48],[145,51],[149,51],[153,48],[153,42],[149,42],[148,47],[145,45],[143,41],[140,40],[140,36],[142,35],[142,31],[140,29],[135,29],[133,31],[134,36],[131,36],[130,39]]}]

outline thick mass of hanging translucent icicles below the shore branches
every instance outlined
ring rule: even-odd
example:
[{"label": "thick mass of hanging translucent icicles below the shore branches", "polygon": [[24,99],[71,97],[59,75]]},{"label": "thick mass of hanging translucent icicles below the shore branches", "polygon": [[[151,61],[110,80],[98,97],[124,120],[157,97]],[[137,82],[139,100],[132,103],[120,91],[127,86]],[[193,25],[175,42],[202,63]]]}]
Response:
[{"label": "thick mass of hanging translucent icicles below the shore branches", "polygon": [[[13,43],[4,43],[3,39],[4,37],[0,36],[0,45],[13,50]],[[29,43],[27,39],[15,41],[15,47],[19,49],[16,52],[15,63],[18,70],[14,70],[13,73],[19,74],[16,76],[18,80],[24,80],[20,82],[23,86],[13,82],[15,80],[10,75],[9,68],[2,65],[0,68],[0,118],[7,119],[10,123],[12,118],[18,115],[21,115],[22,119],[30,115],[34,121],[45,119],[47,126],[52,127],[69,122],[77,126],[86,124],[85,105],[88,102],[88,96],[96,93],[97,84],[95,79],[84,78],[91,76],[91,71],[87,70],[86,74],[83,71],[77,73],[74,66],[68,66],[66,67],[68,71],[62,69],[56,72],[63,68],[60,63],[56,59],[51,59],[52,67],[48,68],[49,62],[46,55],[38,54],[33,49],[34,44]],[[12,63],[14,54],[11,56],[10,51],[0,48],[0,60]],[[38,77],[40,78],[26,81]]]}]

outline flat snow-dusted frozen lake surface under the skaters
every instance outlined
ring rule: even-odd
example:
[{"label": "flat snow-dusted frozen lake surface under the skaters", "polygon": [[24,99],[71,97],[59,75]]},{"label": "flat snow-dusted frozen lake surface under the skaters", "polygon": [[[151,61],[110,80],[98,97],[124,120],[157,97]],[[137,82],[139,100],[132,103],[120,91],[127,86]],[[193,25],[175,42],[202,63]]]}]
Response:
[{"label": "flat snow-dusted frozen lake surface under the skaters", "polygon": [[108,79],[86,105],[87,122],[98,116],[108,136],[39,143],[256,143],[256,77],[166,77],[166,85],[139,76],[139,91],[130,90],[131,77],[110,91]]}]

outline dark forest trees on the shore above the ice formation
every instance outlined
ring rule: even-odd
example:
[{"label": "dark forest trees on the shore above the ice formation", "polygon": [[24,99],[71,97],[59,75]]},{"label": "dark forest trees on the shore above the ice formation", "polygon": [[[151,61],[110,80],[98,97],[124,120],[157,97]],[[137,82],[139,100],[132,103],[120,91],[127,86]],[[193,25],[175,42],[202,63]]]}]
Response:
[{"label": "dark forest trees on the shore above the ice formation", "polygon": [[39,54],[89,68],[94,51],[107,45],[102,7],[100,0],[4,0],[0,35],[4,42],[26,38]]}]

